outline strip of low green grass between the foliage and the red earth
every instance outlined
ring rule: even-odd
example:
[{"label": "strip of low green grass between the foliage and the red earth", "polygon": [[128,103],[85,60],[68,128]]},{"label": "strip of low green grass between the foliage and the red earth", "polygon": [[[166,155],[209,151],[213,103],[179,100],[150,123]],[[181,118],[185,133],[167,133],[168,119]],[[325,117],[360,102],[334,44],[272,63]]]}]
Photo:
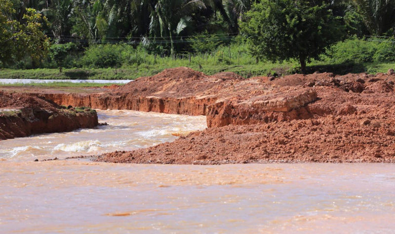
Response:
[{"label": "strip of low green grass between the foliage and the red earth", "polygon": [[[178,63],[176,63],[178,62]],[[200,66],[199,66],[200,65]],[[174,61],[168,65],[146,65],[141,64],[135,67],[125,68],[79,68],[64,69],[59,72],[58,69],[38,68],[38,69],[3,69],[0,70],[0,79],[99,79],[99,80],[116,80],[116,79],[136,79],[141,76],[151,76],[166,68],[171,67],[191,67],[195,70],[202,71],[208,75],[212,75],[222,71],[232,71],[243,77],[274,74],[291,74],[300,72],[296,62],[283,64],[263,63],[254,65],[212,65],[204,63],[191,63],[189,61]],[[360,73],[368,72],[371,74],[377,72],[387,72],[389,68],[395,68],[395,63],[359,63],[359,64],[327,64],[323,62],[313,62],[307,67],[309,73],[315,71],[328,71],[335,74],[346,74],[349,72]],[[45,84],[34,84],[45,85]],[[61,84],[57,84],[61,85]],[[76,84],[76,86],[79,84]],[[97,86],[94,84],[84,84],[89,86]],[[104,84],[100,84],[104,85]]]}]

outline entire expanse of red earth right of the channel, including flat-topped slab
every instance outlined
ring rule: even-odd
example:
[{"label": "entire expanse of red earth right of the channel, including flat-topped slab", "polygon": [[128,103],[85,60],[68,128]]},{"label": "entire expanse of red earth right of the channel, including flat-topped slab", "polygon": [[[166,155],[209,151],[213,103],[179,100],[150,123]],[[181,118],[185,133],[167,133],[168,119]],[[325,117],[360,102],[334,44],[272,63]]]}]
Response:
[{"label": "entire expanse of red earth right of the channel, including flat-topped slab", "polygon": [[[145,77],[151,80],[145,86],[139,83],[133,90],[129,83],[117,92],[132,90],[158,98],[209,97],[211,103],[206,103],[204,111],[209,128],[147,149],[104,154],[98,161],[395,162],[395,75],[391,71],[250,79],[207,76],[185,68],[177,72],[165,70],[166,76]],[[221,78],[214,82],[216,77]]]}]

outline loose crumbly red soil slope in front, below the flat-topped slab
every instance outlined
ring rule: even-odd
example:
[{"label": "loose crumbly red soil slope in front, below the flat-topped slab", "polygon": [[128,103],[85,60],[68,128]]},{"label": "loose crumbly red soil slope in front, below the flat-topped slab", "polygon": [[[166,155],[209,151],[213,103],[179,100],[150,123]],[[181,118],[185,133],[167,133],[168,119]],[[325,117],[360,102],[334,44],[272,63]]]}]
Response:
[{"label": "loose crumbly red soil slope in front, below the flat-topped slab", "polygon": [[172,143],[104,154],[98,161],[160,164],[395,163],[393,93],[359,94],[331,87],[317,89],[321,99],[307,106],[313,115],[311,119],[209,128],[181,136]]}]

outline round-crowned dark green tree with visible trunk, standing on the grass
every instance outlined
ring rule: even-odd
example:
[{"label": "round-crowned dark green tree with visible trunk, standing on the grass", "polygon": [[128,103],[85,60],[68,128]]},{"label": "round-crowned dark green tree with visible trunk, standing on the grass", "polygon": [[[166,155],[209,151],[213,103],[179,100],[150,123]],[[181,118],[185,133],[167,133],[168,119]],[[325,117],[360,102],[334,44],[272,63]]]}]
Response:
[{"label": "round-crowned dark green tree with visible trunk, standing on the grass", "polygon": [[344,26],[325,3],[306,0],[262,0],[240,23],[250,53],[273,62],[297,59],[306,63],[342,39]]}]

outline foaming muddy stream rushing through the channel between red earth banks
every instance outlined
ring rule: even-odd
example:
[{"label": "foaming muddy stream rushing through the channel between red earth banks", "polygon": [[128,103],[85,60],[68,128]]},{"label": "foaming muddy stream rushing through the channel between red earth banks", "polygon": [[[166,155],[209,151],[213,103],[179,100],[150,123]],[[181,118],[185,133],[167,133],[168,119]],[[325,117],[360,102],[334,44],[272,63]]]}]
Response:
[{"label": "foaming muddy stream rushing through the channel between red earth banks", "polygon": [[[204,116],[132,110],[97,110],[97,113],[99,123],[107,122],[107,126],[0,141],[0,158],[33,161],[55,157],[64,159],[81,155],[99,155],[116,150],[134,150],[173,141],[177,138],[177,134],[202,130],[206,127]],[[37,147],[17,148],[27,145]],[[18,152],[15,152],[14,148],[17,148]]]}]

